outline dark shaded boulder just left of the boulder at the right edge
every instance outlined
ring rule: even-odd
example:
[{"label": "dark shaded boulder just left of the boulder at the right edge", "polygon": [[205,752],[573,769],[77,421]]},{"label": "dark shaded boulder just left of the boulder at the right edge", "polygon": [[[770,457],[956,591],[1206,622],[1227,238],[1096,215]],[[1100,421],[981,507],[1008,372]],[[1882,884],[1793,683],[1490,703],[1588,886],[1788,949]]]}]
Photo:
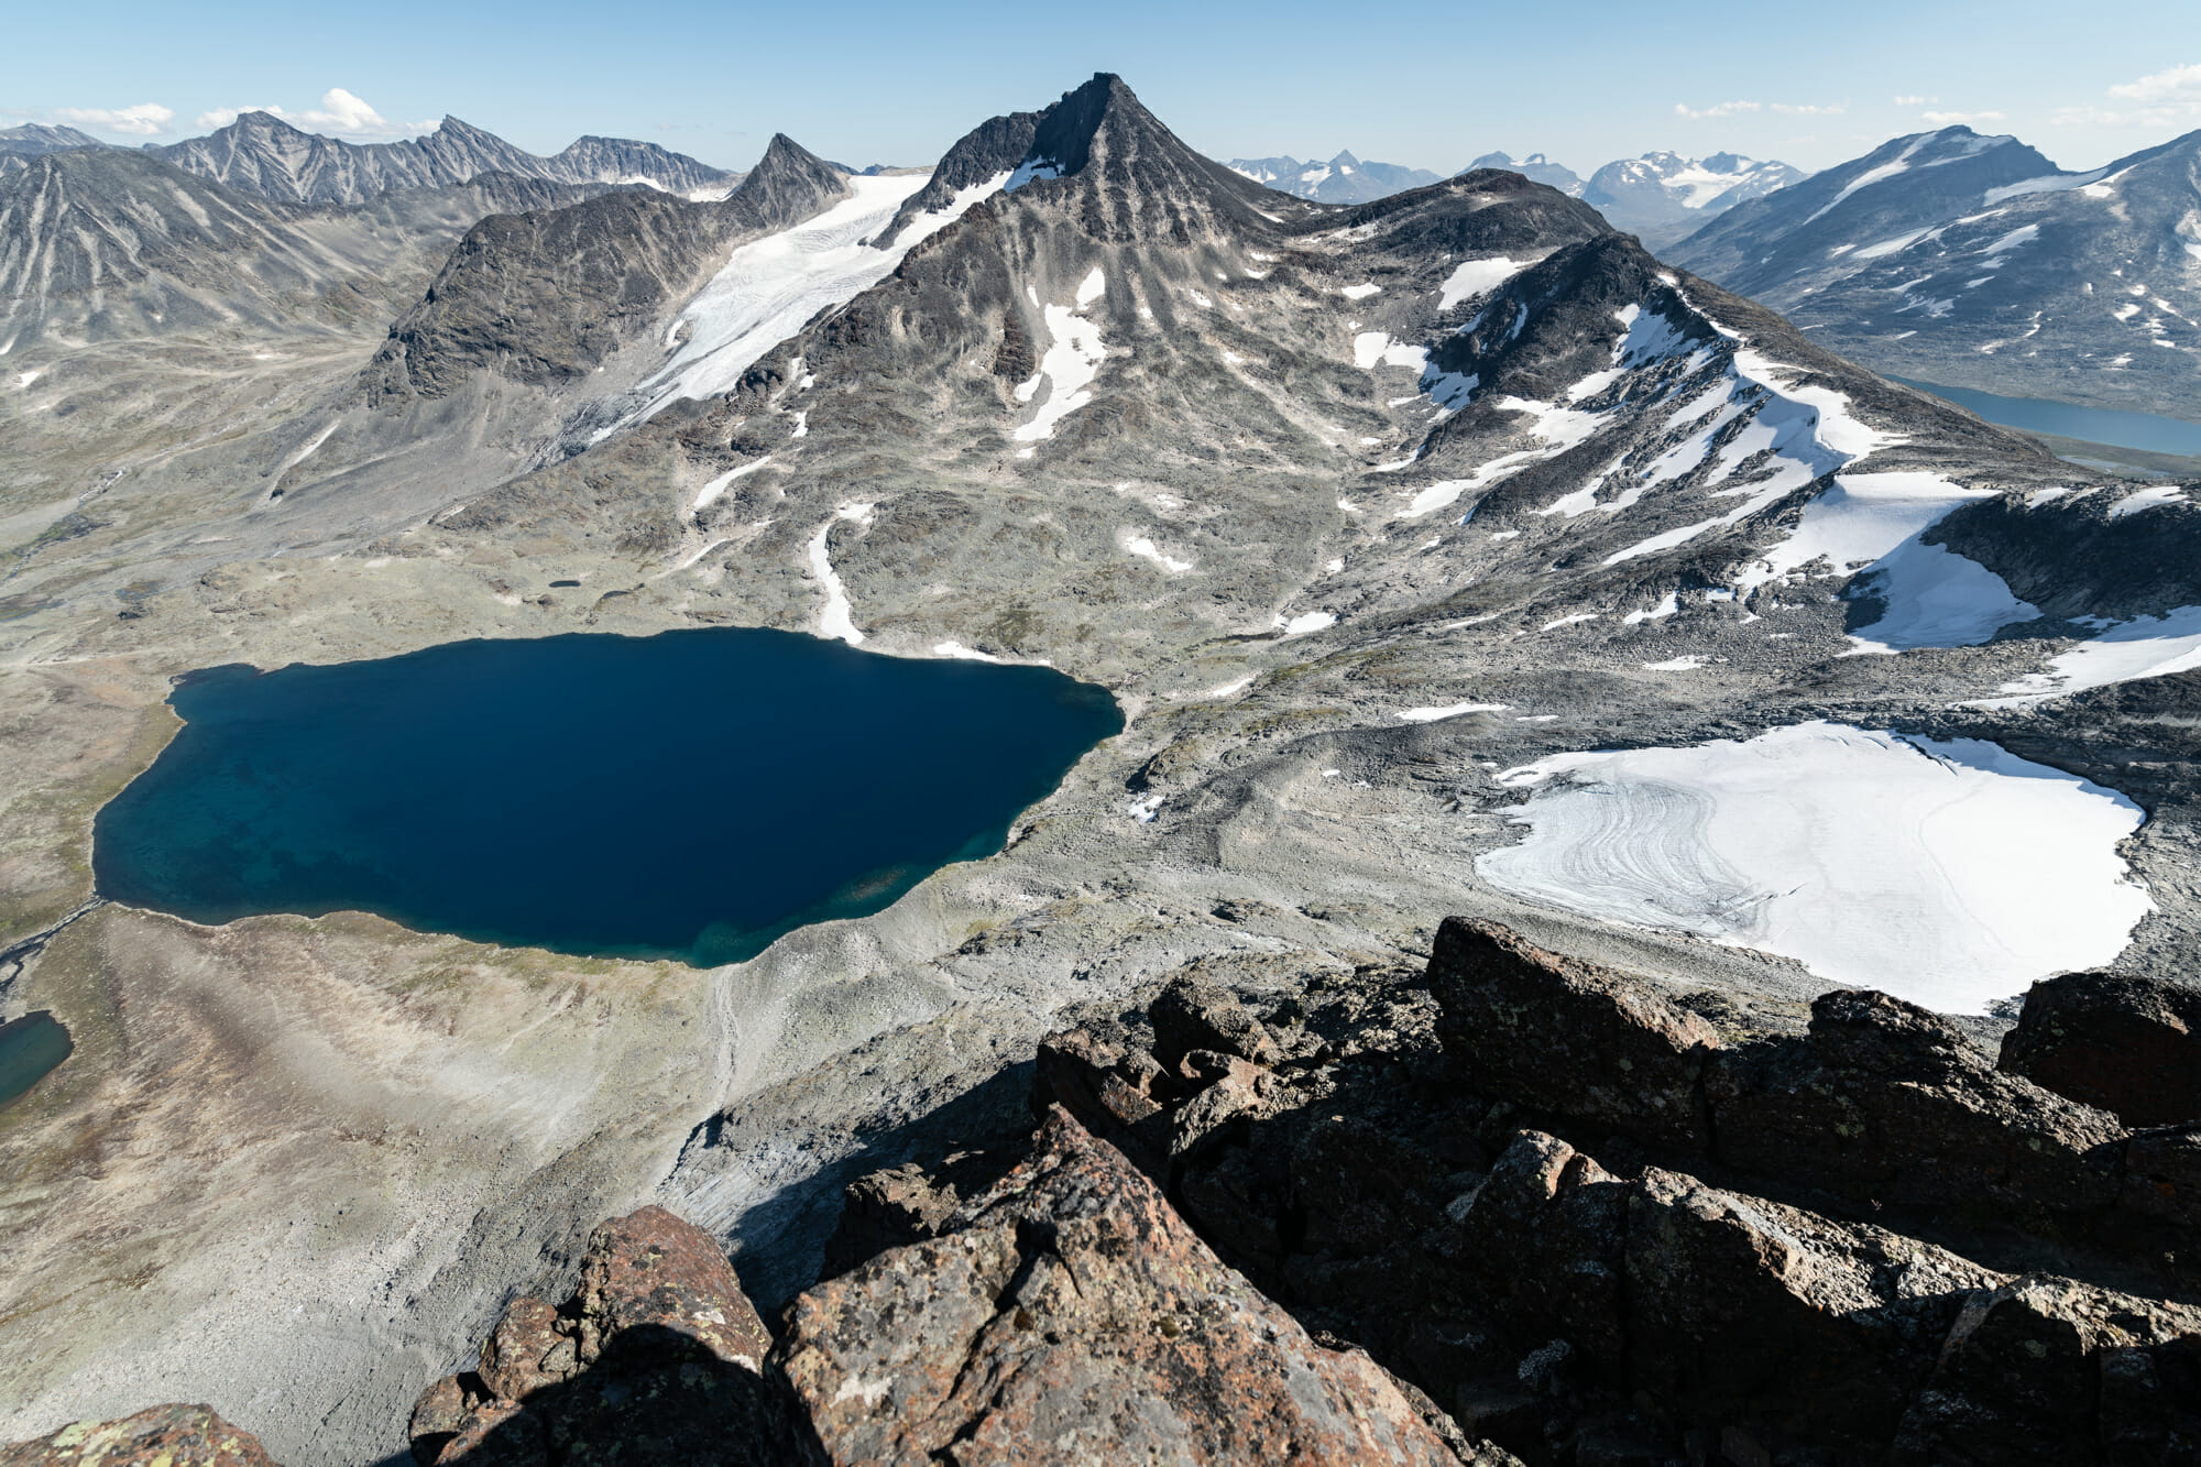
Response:
[{"label": "dark shaded boulder just left of the boulder at the right edge", "polygon": [[2087,1214],[2115,1205],[2115,1117],[2003,1075],[1948,1022],[1886,993],[1822,993],[1805,1040],[1721,1055],[1719,1159],[1884,1203]]}]

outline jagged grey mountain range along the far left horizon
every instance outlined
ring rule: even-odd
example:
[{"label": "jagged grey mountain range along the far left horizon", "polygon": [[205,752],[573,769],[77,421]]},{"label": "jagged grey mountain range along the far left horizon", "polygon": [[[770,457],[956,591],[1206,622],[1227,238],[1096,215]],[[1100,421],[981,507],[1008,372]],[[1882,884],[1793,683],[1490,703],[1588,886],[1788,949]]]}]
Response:
[{"label": "jagged grey mountain range along the far left horizon", "polygon": [[[75,128],[0,130],[0,172],[68,148],[106,148]],[[207,137],[147,145],[165,163],[233,189],[297,205],[357,205],[392,189],[449,189],[482,174],[539,183],[640,183],[685,198],[724,198],[740,172],[618,137],[583,137],[548,159],[456,117],[423,137],[348,143],[293,128],[273,112],[240,112]]]}]

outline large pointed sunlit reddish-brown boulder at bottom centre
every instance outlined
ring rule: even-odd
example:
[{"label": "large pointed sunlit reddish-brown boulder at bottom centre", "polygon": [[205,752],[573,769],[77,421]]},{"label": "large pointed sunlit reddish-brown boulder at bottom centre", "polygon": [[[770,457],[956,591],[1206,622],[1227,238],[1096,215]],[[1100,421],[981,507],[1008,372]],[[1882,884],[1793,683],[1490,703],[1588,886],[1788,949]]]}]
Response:
[{"label": "large pointed sunlit reddish-brown boulder at bottom centre", "polygon": [[801,1295],[779,1359],[836,1463],[1457,1460],[1061,1108],[940,1238]]}]

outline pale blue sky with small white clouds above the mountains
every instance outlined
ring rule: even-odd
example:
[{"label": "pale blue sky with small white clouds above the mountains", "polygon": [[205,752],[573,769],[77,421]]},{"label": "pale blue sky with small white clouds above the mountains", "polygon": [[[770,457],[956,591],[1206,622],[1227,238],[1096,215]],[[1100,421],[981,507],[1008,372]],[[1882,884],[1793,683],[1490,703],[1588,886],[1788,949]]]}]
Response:
[{"label": "pale blue sky with small white clouds above the mountains", "polygon": [[1094,70],[1211,156],[1349,148],[1439,172],[1505,150],[1587,174],[1653,148],[1825,167],[1946,121],[2093,167],[2201,128],[2194,0],[20,9],[0,123],[112,141],[275,106],[354,139],[453,112],[535,152],[601,132],[746,167],[788,132],[843,163],[929,163]]}]

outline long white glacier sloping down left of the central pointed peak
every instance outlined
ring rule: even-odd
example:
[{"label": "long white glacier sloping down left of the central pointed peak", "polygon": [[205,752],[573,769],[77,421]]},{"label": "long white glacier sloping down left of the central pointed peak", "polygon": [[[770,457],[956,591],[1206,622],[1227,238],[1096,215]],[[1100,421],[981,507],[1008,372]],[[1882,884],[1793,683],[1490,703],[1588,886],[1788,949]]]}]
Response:
[{"label": "long white glacier sloping down left of the central pointed peak", "polygon": [[1001,174],[962,189],[946,209],[920,214],[905,225],[887,249],[867,244],[865,240],[894,222],[896,209],[924,187],[927,178],[929,174],[850,178],[850,196],[832,209],[735,249],[667,333],[671,339],[680,326],[689,328],[674,359],[643,381],[649,403],[596,438],[645,421],[682,396],[704,399],[733,390],[742,372],[801,330],[810,317],[876,286],[918,242],[1008,183],[1008,174]]}]

